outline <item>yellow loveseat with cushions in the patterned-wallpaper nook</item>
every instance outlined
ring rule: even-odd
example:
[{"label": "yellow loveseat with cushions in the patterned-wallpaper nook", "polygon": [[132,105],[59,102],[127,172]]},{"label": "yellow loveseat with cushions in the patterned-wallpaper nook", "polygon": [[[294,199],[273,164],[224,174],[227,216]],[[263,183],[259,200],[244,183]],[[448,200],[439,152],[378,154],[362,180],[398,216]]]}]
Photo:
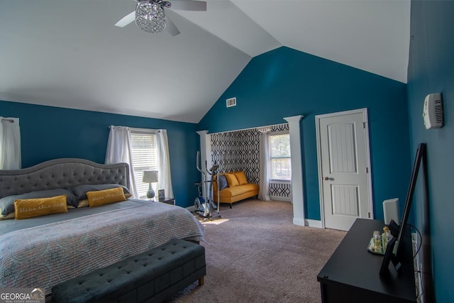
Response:
[{"label": "yellow loveseat with cushions in the patterned-wallpaper nook", "polygon": [[[224,181],[225,180],[225,181]],[[219,197],[218,197],[219,183]],[[225,172],[219,174],[219,181],[214,176],[213,200],[214,202],[229,203],[230,208],[234,202],[258,195],[258,184],[248,183],[243,171]]]}]

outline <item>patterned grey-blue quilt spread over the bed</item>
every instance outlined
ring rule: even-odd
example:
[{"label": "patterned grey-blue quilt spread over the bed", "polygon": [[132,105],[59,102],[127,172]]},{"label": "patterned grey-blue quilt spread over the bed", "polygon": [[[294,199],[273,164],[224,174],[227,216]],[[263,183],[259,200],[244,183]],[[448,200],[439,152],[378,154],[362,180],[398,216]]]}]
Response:
[{"label": "patterned grey-blue quilt spread over the bed", "polygon": [[0,236],[0,287],[53,285],[143,253],[173,238],[204,241],[182,207],[147,203]]}]

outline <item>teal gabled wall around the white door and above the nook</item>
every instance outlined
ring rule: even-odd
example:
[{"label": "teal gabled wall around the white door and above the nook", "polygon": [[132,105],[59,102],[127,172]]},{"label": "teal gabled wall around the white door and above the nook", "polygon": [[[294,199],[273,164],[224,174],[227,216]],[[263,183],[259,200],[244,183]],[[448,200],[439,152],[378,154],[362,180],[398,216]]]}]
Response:
[{"label": "teal gabled wall around the white door and above the nook", "polygon": [[[226,108],[236,97],[237,106]],[[384,199],[403,203],[411,160],[406,84],[340,63],[277,48],[254,57],[201,119],[210,133],[284,123],[303,115],[301,148],[307,219],[320,220],[315,116],[367,108],[376,219]]]}]

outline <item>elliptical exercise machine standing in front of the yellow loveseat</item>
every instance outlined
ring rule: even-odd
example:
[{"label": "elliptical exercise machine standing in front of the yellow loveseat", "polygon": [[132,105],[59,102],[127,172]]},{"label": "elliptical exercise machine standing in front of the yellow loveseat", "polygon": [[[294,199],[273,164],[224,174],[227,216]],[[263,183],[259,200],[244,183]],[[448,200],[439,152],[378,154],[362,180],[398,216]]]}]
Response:
[{"label": "elliptical exercise machine standing in front of the yellow loveseat", "polygon": [[[213,182],[214,176],[218,175],[219,172],[219,165],[213,165],[207,172],[201,170],[200,167],[200,153],[197,152],[196,156],[196,167],[199,172],[201,172],[202,180],[201,182],[195,182],[194,185],[198,189],[198,196],[194,201],[195,213],[199,216],[204,217],[204,221],[220,219],[221,215],[219,215],[219,201],[218,205],[216,206],[213,202]],[[211,180],[206,180],[206,173],[211,175]],[[204,196],[204,192],[206,196]],[[219,199],[218,199],[219,200]],[[213,209],[217,210],[218,216],[213,217]]]}]

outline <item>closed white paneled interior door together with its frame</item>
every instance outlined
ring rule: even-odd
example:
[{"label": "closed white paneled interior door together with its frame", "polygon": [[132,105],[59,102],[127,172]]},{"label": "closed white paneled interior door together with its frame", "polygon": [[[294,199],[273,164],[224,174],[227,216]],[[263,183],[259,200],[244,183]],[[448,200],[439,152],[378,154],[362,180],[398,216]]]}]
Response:
[{"label": "closed white paneled interior door together with its frame", "polygon": [[348,231],[371,218],[367,109],[316,116],[322,225]]}]

